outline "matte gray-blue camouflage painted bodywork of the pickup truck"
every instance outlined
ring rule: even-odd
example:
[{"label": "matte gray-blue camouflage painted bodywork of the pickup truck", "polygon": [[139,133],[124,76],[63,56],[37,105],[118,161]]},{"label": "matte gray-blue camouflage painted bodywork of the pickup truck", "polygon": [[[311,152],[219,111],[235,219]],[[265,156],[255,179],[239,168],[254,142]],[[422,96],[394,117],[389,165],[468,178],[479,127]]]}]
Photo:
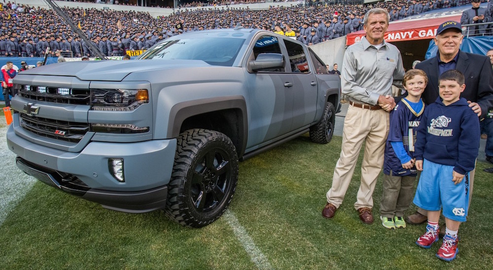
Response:
[{"label": "matte gray-blue camouflage painted bodywork of the pickup truck", "polygon": [[[169,182],[176,152],[176,139],[173,137],[180,123],[194,113],[238,108],[244,121],[245,152],[258,150],[251,153],[255,154],[306,132],[310,125],[320,120],[327,99],[338,105],[339,77],[313,73],[313,63],[305,45],[301,46],[312,70],[310,73],[289,72],[289,61],[285,64],[287,72],[253,73],[247,70],[253,45],[261,35],[274,35],[271,32],[229,29],[186,36],[234,37],[239,34],[246,40],[233,67],[211,66],[196,60],[136,60],[70,62],[23,71],[14,78],[14,83],[81,89],[146,88],[149,90],[149,104],[132,112],[90,111],[89,106],[35,103],[40,106],[41,117],[87,123],[148,125],[150,132],[137,135],[88,133],[83,143],[70,144],[23,131],[18,125],[18,117],[14,117],[14,124],[7,131],[9,148],[29,162],[72,173],[93,189],[142,191]],[[286,37],[276,37],[287,60],[283,42]],[[12,104],[16,110],[22,110],[27,101],[14,97]],[[205,101],[211,102],[201,104]],[[125,183],[119,183],[110,175],[107,160],[111,157],[125,159]]]}]

